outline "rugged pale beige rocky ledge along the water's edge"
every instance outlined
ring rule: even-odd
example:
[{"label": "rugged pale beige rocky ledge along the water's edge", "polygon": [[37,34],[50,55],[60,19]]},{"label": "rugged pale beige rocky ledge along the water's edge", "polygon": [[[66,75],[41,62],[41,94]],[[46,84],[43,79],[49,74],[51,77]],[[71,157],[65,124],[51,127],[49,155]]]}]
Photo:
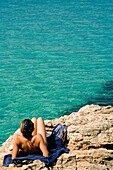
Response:
[{"label": "rugged pale beige rocky ledge along the water's edge", "polygon": [[[51,132],[57,123],[67,125],[67,147],[70,152],[62,154],[52,167],[41,161],[33,161],[22,167],[2,167],[5,154],[12,152],[13,136],[0,147],[0,169],[113,169],[113,107],[86,105],[78,112],[59,119],[46,120],[46,130]],[[15,134],[20,133],[19,130]]]}]

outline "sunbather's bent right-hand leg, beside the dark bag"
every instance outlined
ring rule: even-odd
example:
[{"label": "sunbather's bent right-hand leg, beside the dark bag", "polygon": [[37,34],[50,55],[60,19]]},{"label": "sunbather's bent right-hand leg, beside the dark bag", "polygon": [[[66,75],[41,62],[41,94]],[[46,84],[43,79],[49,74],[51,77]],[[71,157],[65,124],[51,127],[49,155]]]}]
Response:
[{"label": "sunbather's bent right-hand leg, beside the dark bag", "polygon": [[40,133],[42,135],[44,143],[47,146],[45,124],[41,117],[37,119],[37,133]]}]

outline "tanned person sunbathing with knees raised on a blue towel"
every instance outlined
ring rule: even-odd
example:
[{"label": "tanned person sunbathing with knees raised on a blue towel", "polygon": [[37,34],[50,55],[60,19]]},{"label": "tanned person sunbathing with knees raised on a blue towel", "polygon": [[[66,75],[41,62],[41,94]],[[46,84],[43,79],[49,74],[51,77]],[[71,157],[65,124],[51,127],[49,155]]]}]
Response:
[{"label": "tanned person sunbathing with knees raised on a blue towel", "polygon": [[47,138],[43,119],[24,119],[20,124],[20,131],[23,136],[15,135],[12,159],[17,156],[42,153],[49,156],[47,150]]}]

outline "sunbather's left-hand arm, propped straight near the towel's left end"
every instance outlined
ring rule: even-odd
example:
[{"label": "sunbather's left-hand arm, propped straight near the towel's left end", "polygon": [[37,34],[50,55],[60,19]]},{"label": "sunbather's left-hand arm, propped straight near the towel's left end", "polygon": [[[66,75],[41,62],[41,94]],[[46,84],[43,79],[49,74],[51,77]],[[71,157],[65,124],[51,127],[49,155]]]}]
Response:
[{"label": "sunbather's left-hand arm, propped straight near the towel's left end", "polygon": [[18,148],[18,142],[19,142],[19,140],[18,140],[18,135],[16,135],[16,136],[14,137],[12,159],[14,159],[14,158],[17,157],[18,150],[19,150],[19,148]]}]

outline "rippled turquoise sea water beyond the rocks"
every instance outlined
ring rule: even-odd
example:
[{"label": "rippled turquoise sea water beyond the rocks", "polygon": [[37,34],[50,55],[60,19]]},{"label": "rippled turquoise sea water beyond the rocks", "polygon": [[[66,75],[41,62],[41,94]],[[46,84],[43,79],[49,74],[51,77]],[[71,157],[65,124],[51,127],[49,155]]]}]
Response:
[{"label": "rippled turquoise sea water beyond the rocks", "polygon": [[113,105],[113,1],[0,1],[0,145],[92,103]]}]

